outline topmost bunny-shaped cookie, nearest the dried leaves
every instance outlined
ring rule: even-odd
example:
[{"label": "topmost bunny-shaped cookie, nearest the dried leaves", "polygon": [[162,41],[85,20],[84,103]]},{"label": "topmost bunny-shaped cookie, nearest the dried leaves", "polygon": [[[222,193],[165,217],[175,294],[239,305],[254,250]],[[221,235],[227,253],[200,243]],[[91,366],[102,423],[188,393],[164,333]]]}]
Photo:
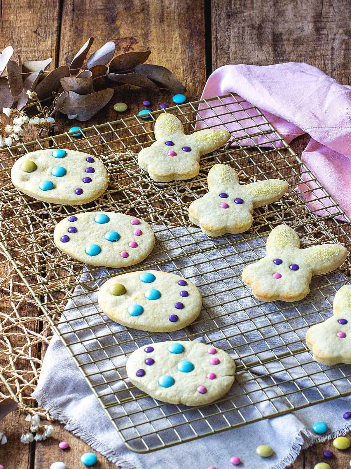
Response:
[{"label": "topmost bunny-shaped cookie, nearest the dried leaves", "polygon": [[220,129],[203,129],[185,135],[178,117],[161,114],[155,122],[156,142],[143,148],[138,157],[141,169],[157,182],[195,177],[199,173],[200,156],[225,144],[230,133]]}]

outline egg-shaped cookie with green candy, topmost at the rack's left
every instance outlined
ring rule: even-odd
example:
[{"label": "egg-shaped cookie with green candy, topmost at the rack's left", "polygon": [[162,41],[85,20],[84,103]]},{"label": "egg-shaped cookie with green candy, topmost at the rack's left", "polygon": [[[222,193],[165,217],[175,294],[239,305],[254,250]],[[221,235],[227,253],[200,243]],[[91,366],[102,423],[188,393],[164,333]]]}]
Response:
[{"label": "egg-shaped cookie with green candy, topmost at the rack's left", "polygon": [[109,180],[96,156],[83,151],[31,151],[11,169],[11,181],[24,194],[42,202],[87,204],[103,194]]}]

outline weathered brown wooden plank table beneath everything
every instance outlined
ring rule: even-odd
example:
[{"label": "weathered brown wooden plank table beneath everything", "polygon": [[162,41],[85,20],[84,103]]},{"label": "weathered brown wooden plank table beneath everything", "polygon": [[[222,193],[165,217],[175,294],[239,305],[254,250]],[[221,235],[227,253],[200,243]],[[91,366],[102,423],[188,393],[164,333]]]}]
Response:
[{"label": "weathered brown wooden plank table beneath everything", "polygon": [[[2,0],[0,23],[1,49],[12,45],[15,56],[20,54],[23,61],[53,57],[55,66],[69,64],[90,36],[95,38],[92,50],[109,40],[116,43],[117,53],[150,48],[149,62],[170,68],[187,87],[188,99],[199,98],[206,77],[228,63],[305,61],[340,83],[350,84],[348,0]],[[112,106],[118,101],[126,102],[128,112],[135,113],[146,98],[157,107],[170,102],[171,94],[153,96],[127,86],[116,89],[110,104],[86,124],[116,119]],[[55,133],[71,125],[79,123],[57,115]],[[307,141],[303,136],[292,146],[300,154]],[[27,314],[38,315],[38,309],[28,307]],[[64,456],[67,467],[80,467],[79,456],[89,450],[84,442],[54,424],[54,439],[22,445],[23,419],[14,414],[1,422],[9,439],[0,447],[0,463],[5,469],[48,469],[53,461],[62,460],[57,443],[63,439],[70,443]],[[332,448],[330,442],[304,450],[290,468],[313,468],[323,461],[321,455],[327,448]],[[332,467],[349,467],[351,450],[335,453]],[[115,466],[99,457],[97,467]],[[229,467],[228,461],[223,461],[225,467]]]}]

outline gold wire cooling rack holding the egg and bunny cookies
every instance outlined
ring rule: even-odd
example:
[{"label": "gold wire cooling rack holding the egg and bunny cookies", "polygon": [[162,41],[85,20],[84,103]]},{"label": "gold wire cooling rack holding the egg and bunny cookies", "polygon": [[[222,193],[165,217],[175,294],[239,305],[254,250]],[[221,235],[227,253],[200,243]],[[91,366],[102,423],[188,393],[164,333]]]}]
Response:
[{"label": "gold wire cooling rack holding the egg and bunny cookies", "polygon": [[[202,157],[200,173],[191,181],[156,183],[137,165],[136,153],[153,141],[153,121],[164,110],[147,120],[132,116],[82,129],[78,137],[64,133],[0,150],[2,247],[125,445],[140,453],[351,393],[350,366],[315,363],[304,342],[308,326],[331,316],[332,298],[347,281],[345,271],[314,278],[310,295],[296,303],[259,302],[240,276],[245,265],[265,254],[265,235],[277,224],[294,227],[310,244],[342,240],[348,247],[350,220],[332,218],[335,211],[343,213],[340,207],[263,114],[238,96],[189,102],[167,111],[179,116],[186,133],[191,133],[204,120],[197,112],[200,105],[232,128],[235,146]],[[257,146],[257,138],[265,146]],[[107,192],[84,207],[40,203],[22,195],[9,178],[14,160],[47,147],[86,151],[100,158],[109,171]],[[285,178],[289,194],[257,209],[248,233],[209,239],[191,226],[187,206],[205,193],[206,176],[215,163],[233,166],[243,183]],[[303,178],[313,184],[304,186],[304,193],[325,207],[321,217],[295,189]],[[155,226],[153,253],[141,266],[125,270],[162,269],[193,281],[203,296],[203,310],[187,329],[145,333],[116,325],[101,313],[96,291],[117,272],[84,268],[53,242],[62,217],[96,209],[138,216]],[[231,353],[236,381],[226,396],[208,406],[187,408],[156,401],[131,385],[125,362],[133,350],[152,341],[179,339],[202,340]]]}]

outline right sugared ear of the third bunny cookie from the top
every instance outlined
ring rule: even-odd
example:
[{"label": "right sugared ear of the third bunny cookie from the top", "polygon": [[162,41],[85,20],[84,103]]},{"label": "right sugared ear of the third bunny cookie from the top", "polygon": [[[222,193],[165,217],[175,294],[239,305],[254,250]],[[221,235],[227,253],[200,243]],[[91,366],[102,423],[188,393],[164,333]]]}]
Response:
[{"label": "right sugared ear of the third bunny cookie from the top", "polygon": [[321,275],[337,269],[345,262],[347,256],[347,249],[340,244],[320,244],[302,252],[306,256],[312,275]]}]

